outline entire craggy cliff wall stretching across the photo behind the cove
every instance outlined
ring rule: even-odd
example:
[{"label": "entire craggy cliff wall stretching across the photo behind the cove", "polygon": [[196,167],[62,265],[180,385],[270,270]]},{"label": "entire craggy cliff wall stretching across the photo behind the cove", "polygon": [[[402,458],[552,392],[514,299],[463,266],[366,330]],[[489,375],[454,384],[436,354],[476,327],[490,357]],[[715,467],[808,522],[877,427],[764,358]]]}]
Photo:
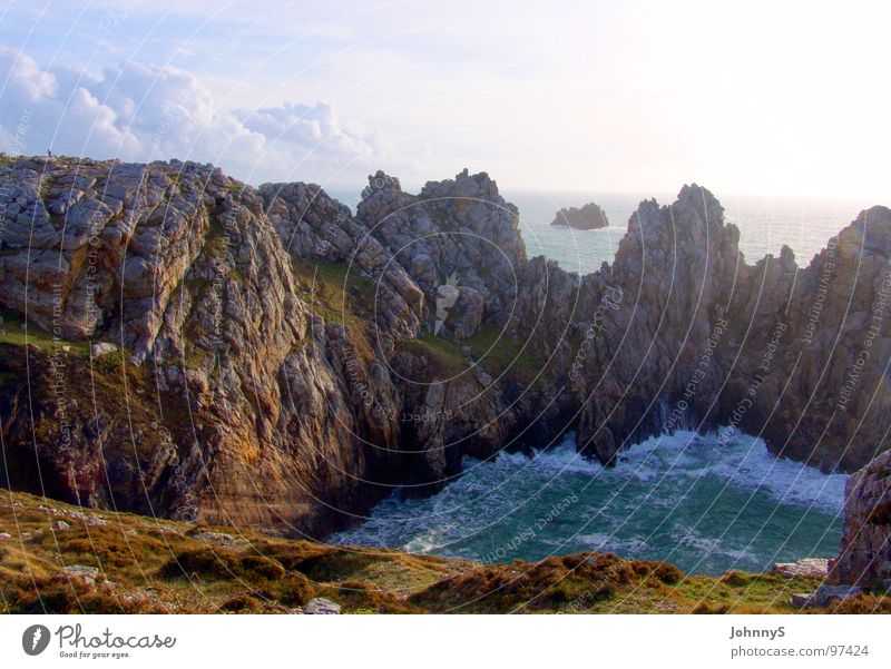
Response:
[{"label": "entire craggy cliff wall stretching across the photo behind the cove", "polygon": [[826,470],[889,446],[883,207],[807,267],[748,265],[685,186],[578,276],[467,170],[418,195],[378,173],[355,215],[192,163],[3,159],[0,183],[0,304],[38,344],[0,337],[11,488],[323,535],[568,431],[606,464],[718,425]]}]

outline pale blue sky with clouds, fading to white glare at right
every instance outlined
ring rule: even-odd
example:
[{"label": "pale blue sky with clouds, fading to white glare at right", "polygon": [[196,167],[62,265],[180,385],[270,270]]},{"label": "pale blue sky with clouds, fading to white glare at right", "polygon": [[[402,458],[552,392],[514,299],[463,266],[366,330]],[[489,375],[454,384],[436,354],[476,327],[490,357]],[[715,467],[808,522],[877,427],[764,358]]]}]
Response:
[{"label": "pale blue sky with clouds, fading to white glare at right", "polygon": [[856,0],[0,0],[0,150],[891,204],[889,24]]}]

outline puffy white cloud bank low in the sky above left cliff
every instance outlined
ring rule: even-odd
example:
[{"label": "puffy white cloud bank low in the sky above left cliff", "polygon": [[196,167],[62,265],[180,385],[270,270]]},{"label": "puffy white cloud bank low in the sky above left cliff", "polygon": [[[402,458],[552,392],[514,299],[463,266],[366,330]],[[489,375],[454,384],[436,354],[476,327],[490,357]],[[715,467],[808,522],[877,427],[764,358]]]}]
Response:
[{"label": "puffy white cloud bank low in the sky above left cliff", "polygon": [[224,111],[195,76],[139,62],[99,76],[0,49],[0,150],[210,161],[257,183],[359,181],[388,145],[325,102]]}]

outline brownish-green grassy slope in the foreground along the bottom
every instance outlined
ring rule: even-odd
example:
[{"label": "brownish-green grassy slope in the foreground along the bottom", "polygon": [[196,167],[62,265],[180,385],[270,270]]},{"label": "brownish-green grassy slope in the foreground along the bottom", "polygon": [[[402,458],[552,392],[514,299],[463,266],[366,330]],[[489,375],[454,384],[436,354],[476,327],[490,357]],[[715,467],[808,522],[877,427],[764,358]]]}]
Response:
[{"label": "brownish-green grassy slope in the foreground along the bottom", "polygon": [[[68,528],[55,529],[58,521]],[[731,572],[685,577],[656,562],[585,553],[539,563],[360,551],[79,509],[0,493],[0,610],[6,612],[270,612],[327,597],[365,612],[792,612],[812,580]],[[66,575],[96,567],[88,582]],[[861,597],[845,607],[891,610]]]}]

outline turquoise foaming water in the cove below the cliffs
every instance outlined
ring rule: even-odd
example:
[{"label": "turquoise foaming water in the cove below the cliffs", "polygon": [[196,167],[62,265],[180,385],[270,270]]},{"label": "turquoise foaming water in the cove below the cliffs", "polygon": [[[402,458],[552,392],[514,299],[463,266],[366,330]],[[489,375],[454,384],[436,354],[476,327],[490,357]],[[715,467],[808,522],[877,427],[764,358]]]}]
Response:
[{"label": "turquoise foaming water in the cove below the cliffs", "polygon": [[463,476],[438,494],[395,492],[331,541],[484,562],[598,550],[689,573],[838,551],[844,475],[776,460],[746,435],[677,433],[623,455],[605,469],[579,458],[569,435],[529,456],[466,459]]}]

